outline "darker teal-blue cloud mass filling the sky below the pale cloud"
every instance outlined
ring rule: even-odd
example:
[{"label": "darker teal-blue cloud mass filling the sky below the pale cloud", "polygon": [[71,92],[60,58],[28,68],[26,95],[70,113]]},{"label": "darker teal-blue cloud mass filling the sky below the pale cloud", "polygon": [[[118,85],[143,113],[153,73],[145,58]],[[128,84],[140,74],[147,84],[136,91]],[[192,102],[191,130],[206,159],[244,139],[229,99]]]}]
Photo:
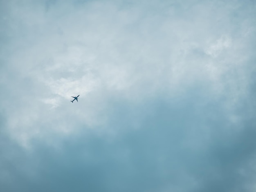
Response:
[{"label": "darker teal-blue cloud mass filling the sky below the pale cloud", "polygon": [[[254,159],[254,119],[231,125],[221,103],[200,105],[200,95],[145,102],[137,108],[143,118],[110,100],[105,129],[116,127],[112,136],[85,131],[56,141],[59,148],[34,141],[32,150],[6,141],[1,159],[10,177],[2,190],[252,191],[240,170],[249,172]],[[131,121],[140,121],[139,128]]]}]

